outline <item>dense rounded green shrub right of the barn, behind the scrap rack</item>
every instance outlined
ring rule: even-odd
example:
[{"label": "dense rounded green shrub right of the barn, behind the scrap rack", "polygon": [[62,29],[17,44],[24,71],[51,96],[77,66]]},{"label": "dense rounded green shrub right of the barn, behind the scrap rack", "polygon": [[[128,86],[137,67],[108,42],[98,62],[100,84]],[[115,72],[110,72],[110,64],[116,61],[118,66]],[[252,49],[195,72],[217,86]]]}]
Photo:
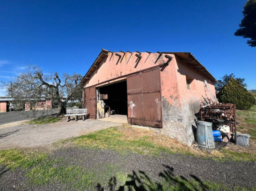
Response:
[{"label": "dense rounded green shrub right of the barn, behind the scrap rack", "polygon": [[221,89],[220,101],[236,104],[237,109],[250,109],[255,103],[254,96],[234,78],[231,78],[223,89]]}]

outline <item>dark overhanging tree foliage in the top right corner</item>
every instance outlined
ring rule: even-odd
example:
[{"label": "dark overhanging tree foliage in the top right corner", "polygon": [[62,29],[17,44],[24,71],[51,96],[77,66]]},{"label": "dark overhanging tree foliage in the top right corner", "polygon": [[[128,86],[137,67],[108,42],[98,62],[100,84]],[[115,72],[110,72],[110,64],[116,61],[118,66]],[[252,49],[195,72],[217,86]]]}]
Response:
[{"label": "dark overhanging tree foliage in the top right corner", "polygon": [[248,0],[243,10],[243,20],[239,24],[235,35],[250,38],[247,41],[251,47],[256,46],[256,0]]}]

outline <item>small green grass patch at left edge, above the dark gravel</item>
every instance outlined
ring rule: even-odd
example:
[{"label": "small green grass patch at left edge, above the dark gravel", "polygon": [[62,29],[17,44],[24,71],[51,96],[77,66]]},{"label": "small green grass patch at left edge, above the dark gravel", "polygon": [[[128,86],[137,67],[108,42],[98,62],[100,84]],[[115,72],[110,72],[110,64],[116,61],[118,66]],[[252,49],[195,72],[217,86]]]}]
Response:
[{"label": "small green grass patch at left edge, above the dark gravel", "polygon": [[28,169],[47,158],[46,153],[28,149],[7,149],[0,151],[0,165],[16,169],[22,167]]}]

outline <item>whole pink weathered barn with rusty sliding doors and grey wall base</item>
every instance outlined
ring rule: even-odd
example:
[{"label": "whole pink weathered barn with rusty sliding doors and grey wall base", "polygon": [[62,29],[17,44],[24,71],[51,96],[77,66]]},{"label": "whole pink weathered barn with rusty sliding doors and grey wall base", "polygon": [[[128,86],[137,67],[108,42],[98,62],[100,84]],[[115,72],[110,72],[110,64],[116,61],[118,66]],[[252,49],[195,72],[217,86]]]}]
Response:
[{"label": "whole pink weathered barn with rusty sliding doors and grey wall base", "polygon": [[192,144],[195,113],[215,94],[215,78],[191,53],[111,52],[102,49],[83,77],[90,118],[127,115],[128,123],[159,128]]}]

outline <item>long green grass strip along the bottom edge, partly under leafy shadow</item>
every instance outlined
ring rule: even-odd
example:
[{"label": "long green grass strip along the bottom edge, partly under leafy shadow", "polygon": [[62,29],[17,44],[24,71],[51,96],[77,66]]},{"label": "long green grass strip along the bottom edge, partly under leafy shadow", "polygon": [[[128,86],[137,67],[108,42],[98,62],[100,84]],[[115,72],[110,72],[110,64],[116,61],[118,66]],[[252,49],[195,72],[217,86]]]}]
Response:
[{"label": "long green grass strip along the bottom edge, partly under leafy shadow", "polygon": [[[145,191],[256,191],[255,188],[228,187],[224,184],[211,181],[202,181],[197,176],[190,178],[176,176],[173,168],[164,166],[165,170],[159,173],[156,181],[143,171],[133,171],[132,174],[124,172],[117,164],[92,164],[83,167],[79,163],[70,163],[70,160],[59,156],[41,153],[35,150],[9,149],[0,151],[0,165],[15,170],[21,167],[28,177],[26,185],[44,186],[52,185],[54,188],[67,190],[145,190]],[[18,170],[18,169],[17,169]],[[18,177],[17,177],[18,178]],[[25,184],[24,184],[25,185]],[[46,187],[47,188],[47,187]],[[23,187],[24,189],[24,187]]]}]

